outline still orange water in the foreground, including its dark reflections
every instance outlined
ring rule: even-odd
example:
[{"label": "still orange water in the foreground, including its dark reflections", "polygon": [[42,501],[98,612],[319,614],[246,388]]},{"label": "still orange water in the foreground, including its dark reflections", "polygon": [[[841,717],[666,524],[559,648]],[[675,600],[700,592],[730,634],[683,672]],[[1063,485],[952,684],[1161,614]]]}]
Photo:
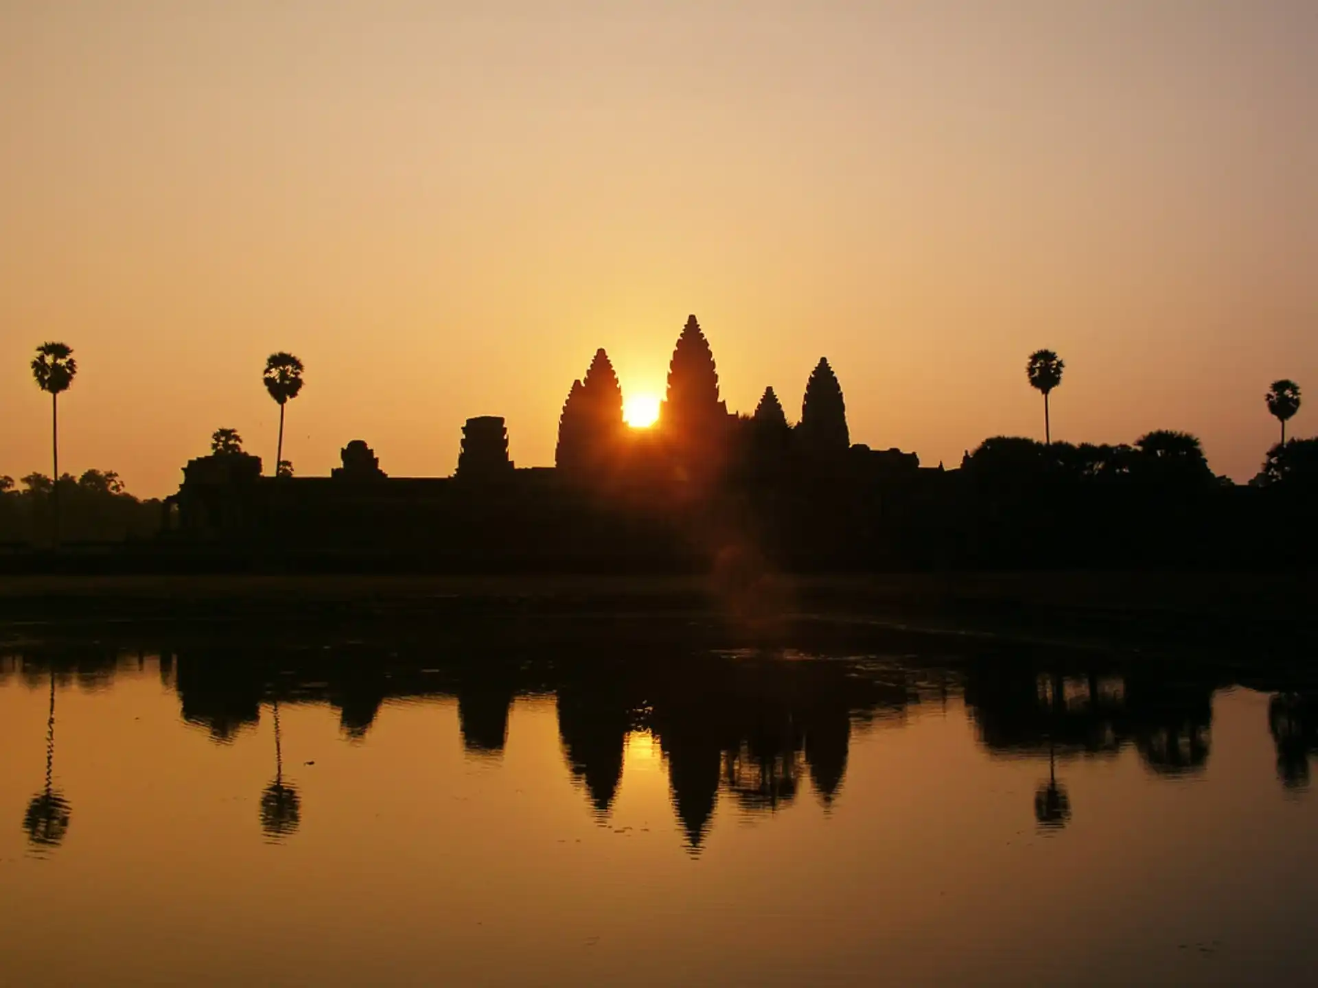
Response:
[{"label": "still orange water in the foreground, including its dark reflections", "polygon": [[1318,970],[1318,706],[1284,680],[188,640],[0,659],[0,983]]}]

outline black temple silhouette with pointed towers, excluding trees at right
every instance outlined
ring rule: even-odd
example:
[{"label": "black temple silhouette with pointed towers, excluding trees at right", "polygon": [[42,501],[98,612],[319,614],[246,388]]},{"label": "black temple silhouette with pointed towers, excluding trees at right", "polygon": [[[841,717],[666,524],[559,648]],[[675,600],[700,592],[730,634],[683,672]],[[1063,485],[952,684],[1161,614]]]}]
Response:
[{"label": "black temple silhouette with pointed towers, excluding trees at right", "polygon": [[[770,530],[783,519],[762,511],[768,506],[755,491],[786,490],[803,478],[820,487],[912,485],[941,473],[923,470],[913,453],[853,445],[826,360],[809,374],[795,428],[772,387],[754,415],[730,412],[695,316],[673,346],[655,425],[630,428],[622,410],[622,389],[601,348],[568,389],[552,468],[517,468],[505,420],[493,415],[463,425],[448,477],[391,477],[362,439],[343,448],[343,465],[330,477],[266,476],[260,457],[216,447],[183,468],[182,486],[163,502],[163,535],[203,551],[278,547],[477,569],[689,568],[729,551],[766,555]],[[793,507],[807,495],[796,490],[776,501]],[[784,551],[792,547],[768,553]]]}]

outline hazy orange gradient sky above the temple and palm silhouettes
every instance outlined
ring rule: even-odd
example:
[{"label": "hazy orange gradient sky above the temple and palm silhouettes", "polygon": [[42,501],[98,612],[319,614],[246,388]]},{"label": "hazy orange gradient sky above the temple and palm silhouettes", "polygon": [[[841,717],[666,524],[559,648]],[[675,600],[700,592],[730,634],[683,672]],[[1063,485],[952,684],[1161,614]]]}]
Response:
[{"label": "hazy orange gradient sky above the temple and palm silhouettes", "polygon": [[1318,422],[1318,4],[0,0],[0,473],[174,489],[212,429],[447,474],[471,415],[551,464],[596,346],[660,393],[688,312],[729,407],[820,356],[853,441],[1043,432],[1257,469]]}]

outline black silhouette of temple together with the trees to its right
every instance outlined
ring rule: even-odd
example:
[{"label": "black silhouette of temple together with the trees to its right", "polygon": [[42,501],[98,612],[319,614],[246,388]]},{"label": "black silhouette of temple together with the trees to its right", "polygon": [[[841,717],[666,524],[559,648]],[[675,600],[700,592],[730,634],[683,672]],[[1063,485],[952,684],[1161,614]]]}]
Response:
[{"label": "black silhouette of temple together with the trees to its right", "polygon": [[494,415],[467,420],[447,477],[393,477],[362,439],[330,477],[268,476],[229,433],[165,499],[153,565],[713,572],[731,606],[767,611],[775,572],[1276,568],[1318,552],[1304,441],[1278,447],[1251,486],[1215,477],[1194,436],[1166,429],[1115,447],[996,436],[952,469],[923,466],[851,441],[826,358],[795,424],[772,386],[754,414],[730,411],[695,316],[651,428],[626,425],[596,350],[567,389],[552,468],[518,468]]}]

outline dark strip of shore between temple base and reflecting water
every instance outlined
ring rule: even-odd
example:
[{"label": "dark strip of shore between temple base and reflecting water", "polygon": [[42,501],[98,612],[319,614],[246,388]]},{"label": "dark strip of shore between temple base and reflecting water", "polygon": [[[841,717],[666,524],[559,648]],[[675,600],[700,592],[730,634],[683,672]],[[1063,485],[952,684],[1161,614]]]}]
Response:
[{"label": "dark strip of shore between temple base and reflecting water", "polygon": [[1313,573],[0,576],[0,640],[190,628],[231,640],[573,635],[710,647],[900,649],[911,638],[1318,669]]}]

